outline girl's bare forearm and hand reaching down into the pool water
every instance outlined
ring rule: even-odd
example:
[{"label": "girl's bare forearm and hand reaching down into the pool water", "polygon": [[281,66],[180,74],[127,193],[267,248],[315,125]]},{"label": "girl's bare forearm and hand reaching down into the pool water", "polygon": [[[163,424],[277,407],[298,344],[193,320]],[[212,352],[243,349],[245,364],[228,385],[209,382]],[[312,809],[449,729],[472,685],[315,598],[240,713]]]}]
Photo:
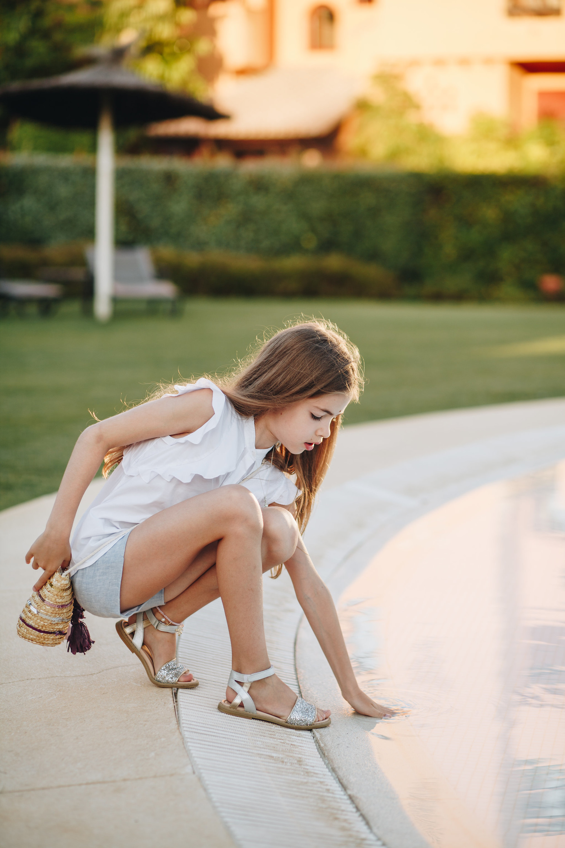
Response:
[{"label": "girl's bare forearm and hand reaching down into the pool water", "polygon": [[341,695],[363,716],[383,718],[393,715],[394,711],[379,706],[359,688],[347,654],[334,601],[314,568],[302,538],[299,538],[296,551],[291,559],[285,562],[285,567],[291,576],[296,598],[335,674]]}]

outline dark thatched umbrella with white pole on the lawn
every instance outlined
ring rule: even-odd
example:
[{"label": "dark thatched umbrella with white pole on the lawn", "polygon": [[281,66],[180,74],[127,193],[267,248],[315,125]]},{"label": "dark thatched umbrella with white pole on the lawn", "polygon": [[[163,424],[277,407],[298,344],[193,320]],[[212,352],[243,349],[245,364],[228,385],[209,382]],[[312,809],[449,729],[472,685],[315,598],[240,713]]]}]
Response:
[{"label": "dark thatched umbrella with white pole on the lawn", "polygon": [[114,289],[114,126],[189,114],[208,120],[226,117],[213,106],[126,70],[126,51],[116,48],[96,64],[69,74],[0,87],[0,103],[9,114],[52,126],[98,128],[94,314],[100,321],[112,315]]}]

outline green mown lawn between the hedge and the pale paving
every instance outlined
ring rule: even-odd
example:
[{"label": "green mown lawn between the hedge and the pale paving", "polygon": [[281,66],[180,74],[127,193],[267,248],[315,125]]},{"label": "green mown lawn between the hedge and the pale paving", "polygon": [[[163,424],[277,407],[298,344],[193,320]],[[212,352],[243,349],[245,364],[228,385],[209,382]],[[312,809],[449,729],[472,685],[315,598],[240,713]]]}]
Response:
[{"label": "green mown lawn between the hedge and the pale paving", "polygon": [[302,314],[330,318],[361,349],[367,386],[346,423],[565,395],[561,305],[191,299],[182,318],[119,307],[98,326],[69,302],[53,318],[30,310],[0,323],[0,506],[58,487],[88,410],[111,416],[179,371],[222,371],[256,335]]}]

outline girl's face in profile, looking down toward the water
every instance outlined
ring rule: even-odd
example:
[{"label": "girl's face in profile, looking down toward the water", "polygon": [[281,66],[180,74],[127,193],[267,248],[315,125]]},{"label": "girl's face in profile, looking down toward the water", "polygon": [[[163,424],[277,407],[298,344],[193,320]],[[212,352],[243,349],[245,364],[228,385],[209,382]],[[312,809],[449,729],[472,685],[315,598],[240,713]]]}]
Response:
[{"label": "girl's face in profile, looking down toward the water", "polygon": [[274,442],[282,442],[291,454],[312,450],[314,444],[329,438],[330,422],[341,415],[350,400],[348,394],[319,394],[268,412],[256,421],[255,445],[267,448]]}]

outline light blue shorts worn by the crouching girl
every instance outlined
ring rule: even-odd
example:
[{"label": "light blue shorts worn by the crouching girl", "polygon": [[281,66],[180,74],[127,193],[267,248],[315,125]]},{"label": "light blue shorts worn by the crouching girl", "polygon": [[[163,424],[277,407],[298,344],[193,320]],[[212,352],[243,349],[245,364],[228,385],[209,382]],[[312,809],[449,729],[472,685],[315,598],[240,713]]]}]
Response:
[{"label": "light blue shorts worn by the crouching girl", "polygon": [[128,618],[134,612],[150,610],[152,606],[164,604],[164,589],[139,606],[130,610],[119,609],[119,588],[124,569],[125,544],[130,533],[118,539],[116,544],[102,554],[91,566],[80,568],[71,577],[75,598],[80,606],[93,616],[101,618]]}]

